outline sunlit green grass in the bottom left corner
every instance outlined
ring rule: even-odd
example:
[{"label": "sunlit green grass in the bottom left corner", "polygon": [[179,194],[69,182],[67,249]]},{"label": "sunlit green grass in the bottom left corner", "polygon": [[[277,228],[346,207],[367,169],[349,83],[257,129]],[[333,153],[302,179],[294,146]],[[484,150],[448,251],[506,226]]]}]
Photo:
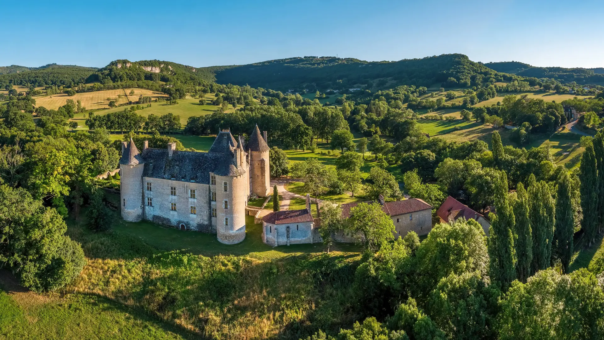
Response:
[{"label": "sunlit green grass in the bottom left corner", "polygon": [[95,295],[7,294],[0,290],[0,338],[143,340],[197,336],[142,310]]}]

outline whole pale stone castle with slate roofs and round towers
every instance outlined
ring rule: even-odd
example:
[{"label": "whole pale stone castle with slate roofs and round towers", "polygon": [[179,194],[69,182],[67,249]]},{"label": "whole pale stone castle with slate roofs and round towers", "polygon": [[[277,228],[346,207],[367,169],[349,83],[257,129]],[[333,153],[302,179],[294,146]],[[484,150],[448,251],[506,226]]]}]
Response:
[{"label": "whole pale stone castle with slate roofs and round towers", "polygon": [[[255,147],[268,149],[263,141],[255,141]],[[250,173],[253,170],[262,177],[260,187],[265,185],[263,176],[269,178],[268,167],[264,174],[262,169],[254,170],[256,165],[250,164],[244,143],[228,131],[216,136],[209,152],[176,151],[175,143],[167,149],[152,149],[146,141],[140,152],[132,139],[123,142],[122,218],[216,233],[226,244],[241,242],[251,187],[257,185]]]}]

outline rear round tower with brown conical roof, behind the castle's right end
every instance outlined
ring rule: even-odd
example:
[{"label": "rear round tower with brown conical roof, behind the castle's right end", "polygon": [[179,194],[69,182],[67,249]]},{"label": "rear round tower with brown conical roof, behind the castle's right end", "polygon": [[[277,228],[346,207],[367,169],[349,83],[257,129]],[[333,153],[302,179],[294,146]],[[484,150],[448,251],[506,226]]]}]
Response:
[{"label": "rear round tower with brown conical roof, behind the castle's right end", "polygon": [[258,196],[268,196],[271,191],[271,170],[269,168],[269,150],[266,144],[266,131],[260,135],[256,125],[246,147],[249,154],[250,190]]}]

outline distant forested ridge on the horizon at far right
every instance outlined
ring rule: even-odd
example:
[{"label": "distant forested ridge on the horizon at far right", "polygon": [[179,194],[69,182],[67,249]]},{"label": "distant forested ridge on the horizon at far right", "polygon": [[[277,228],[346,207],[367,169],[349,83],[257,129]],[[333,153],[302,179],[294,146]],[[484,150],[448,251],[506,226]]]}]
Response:
[{"label": "distant forested ridge on the horizon at far right", "polygon": [[521,62],[485,63],[490,69],[522,77],[552,78],[561,83],[594,84],[604,82],[604,68],[538,67]]}]

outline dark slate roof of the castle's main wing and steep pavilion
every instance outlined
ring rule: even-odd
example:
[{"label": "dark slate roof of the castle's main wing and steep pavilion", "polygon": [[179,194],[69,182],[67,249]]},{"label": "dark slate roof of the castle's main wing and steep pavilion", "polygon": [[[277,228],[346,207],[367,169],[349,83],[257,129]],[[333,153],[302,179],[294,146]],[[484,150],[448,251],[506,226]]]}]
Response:
[{"label": "dark slate roof of the castle's main wing and steep pavilion", "polygon": [[233,157],[235,146],[235,138],[225,131],[216,136],[210,152],[175,150],[172,157],[169,157],[167,149],[147,148],[142,157],[138,157],[144,162],[145,177],[210,184],[210,172],[219,176],[239,176],[245,173],[242,167],[236,166]]}]

